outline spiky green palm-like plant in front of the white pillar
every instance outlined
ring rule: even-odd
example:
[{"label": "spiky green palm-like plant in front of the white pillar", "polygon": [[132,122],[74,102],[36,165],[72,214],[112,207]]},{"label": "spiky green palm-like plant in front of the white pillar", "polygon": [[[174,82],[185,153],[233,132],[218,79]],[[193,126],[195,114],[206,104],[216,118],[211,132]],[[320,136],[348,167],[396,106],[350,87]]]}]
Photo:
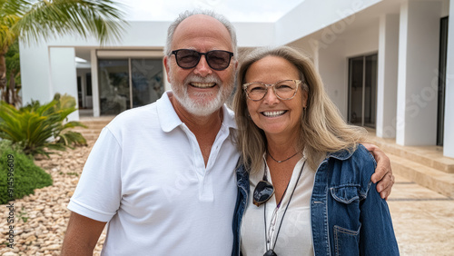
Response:
[{"label": "spiky green palm-like plant in front of the white pillar", "polygon": [[24,153],[49,156],[53,150],[86,144],[81,133],[68,130],[86,126],[76,121],[65,123],[76,110],[72,96],[56,94],[50,103],[32,102],[19,110],[2,101],[0,109],[0,138],[13,142]]}]

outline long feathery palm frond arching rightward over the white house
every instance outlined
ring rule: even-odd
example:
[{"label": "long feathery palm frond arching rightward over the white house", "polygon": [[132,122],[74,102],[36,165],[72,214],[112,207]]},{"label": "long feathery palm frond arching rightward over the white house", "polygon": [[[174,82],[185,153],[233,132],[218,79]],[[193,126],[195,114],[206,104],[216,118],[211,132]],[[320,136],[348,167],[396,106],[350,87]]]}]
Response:
[{"label": "long feathery palm frond arching rightward over the white house", "polygon": [[[14,0],[19,1],[19,0]],[[23,1],[24,2],[24,1]],[[126,22],[111,0],[38,1],[12,27],[25,44],[61,34],[94,36],[101,44],[120,40]]]}]

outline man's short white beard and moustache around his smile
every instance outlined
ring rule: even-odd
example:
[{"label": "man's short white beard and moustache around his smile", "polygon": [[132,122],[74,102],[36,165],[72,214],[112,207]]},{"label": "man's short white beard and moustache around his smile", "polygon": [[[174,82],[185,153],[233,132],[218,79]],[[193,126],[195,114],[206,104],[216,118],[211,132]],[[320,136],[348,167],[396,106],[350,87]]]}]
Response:
[{"label": "man's short white beard and moustache around his smile", "polygon": [[[233,76],[234,74],[232,74]],[[231,78],[230,82],[227,84],[222,84],[221,79],[217,76],[211,74],[207,77],[201,77],[195,74],[190,74],[186,79],[184,79],[183,84],[176,84],[173,80],[172,71],[169,73],[169,78],[171,81],[173,96],[176,100],[182,104],[183,108],[193,115],[197,116],[208,116],[216,111],[218,111],[222,104],[227,101],[229,96],[232,94],[234,79]],[[206,100],[206,98],[212,98],[213,92],[193,94],[196,96],[196,99],[192,99],[188,95],[187,85],[189,83],[216,83],[218,85],[219,91],[212,100]],[[191,85],[189,85],[191,86]]]}]

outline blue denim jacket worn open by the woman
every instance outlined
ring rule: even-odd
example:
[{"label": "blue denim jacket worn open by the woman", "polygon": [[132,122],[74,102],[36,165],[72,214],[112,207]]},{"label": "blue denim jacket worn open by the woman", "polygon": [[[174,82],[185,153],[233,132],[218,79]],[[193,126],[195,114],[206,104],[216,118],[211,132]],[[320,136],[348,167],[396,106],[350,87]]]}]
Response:
[{"label": "blue denim jacket worn open by the woman", "polygon": [[[370,182],[375,167],[374,158],[362,145],[352,153],[329,153],[321,162],[311,195],[315,255],[399,255],[388,204]],[[236,175],[232,255],[241,253],[242,216],[250,194],[244,165],[237,167]]]}]

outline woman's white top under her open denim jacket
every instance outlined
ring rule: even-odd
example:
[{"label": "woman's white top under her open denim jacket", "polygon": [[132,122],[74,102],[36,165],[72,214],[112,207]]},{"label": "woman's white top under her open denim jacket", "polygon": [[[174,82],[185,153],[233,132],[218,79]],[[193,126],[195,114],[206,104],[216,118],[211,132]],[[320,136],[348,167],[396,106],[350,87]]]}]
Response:
[{"label": "woman's white top under her open denim jacket", "polygon": [[[300,181],[296,184],[300,175],[301,167],[305,161],[304,157],[295,165],[287,192],[282,197],[281,206],[276,210],[276,196],[266,202],[266,228],[270,229],[270,224],[274,216],[275,231],[271,232],[271,248],[276,241],[276,235],[281,225],[281,231],[276,241],[274,251],[278,255],[313,255],[313,244],[311,235],[311,193],[315,172],[308,164],[304,165],[301,172]],[[263,166],[262,166],[263,170]],[[267,180],[271,182],[271,174],[268,165],[266,166]],[[251,196],[249,197],[246,212],[242,218],[242,254],[263,255],[266,252],[265,224],[263,220],[264,204],[260,207],[252,203],[253,191],[258,182],[262,181],[263,171],[256,172],[250,177]],[[296,189],[291,198],[291,203],[285,213],[282,222],[282,214],[289,204],[291,192]],[[282,222],[282,223],[281,223]],[[268,234],[269,235],[269,234]]]}]

